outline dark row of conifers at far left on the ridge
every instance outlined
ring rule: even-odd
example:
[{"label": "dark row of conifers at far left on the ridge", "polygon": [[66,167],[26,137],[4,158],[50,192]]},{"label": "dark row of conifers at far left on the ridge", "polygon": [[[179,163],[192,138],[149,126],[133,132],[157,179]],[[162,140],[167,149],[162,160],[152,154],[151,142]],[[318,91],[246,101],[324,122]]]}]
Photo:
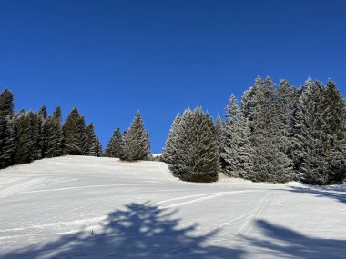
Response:
[{"label": "dark row of conifers at far left on the ridge", "polygon": [[86,126],[76,108],[62,126],[59,106],[52,115],[45,105],[38,112],[17,114],[14,106],[14,95],[5,89],[0,95],[0,168],[64,154],[101,156],[94,125]]}]

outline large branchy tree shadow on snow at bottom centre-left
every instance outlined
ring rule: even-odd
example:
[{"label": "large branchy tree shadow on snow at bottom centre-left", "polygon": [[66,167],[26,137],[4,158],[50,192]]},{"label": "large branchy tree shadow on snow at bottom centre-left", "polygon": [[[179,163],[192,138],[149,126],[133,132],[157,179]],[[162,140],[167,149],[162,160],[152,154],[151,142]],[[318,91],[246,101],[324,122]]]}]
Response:
[{"label": "large branchy tree shadow on snow at bottom centre-left", "polygon": [[91,234],[83,230],[55,242],[30,245],[1,258],[240,258],[243,252],[208,245],[218,231],[194,235],[198,224],[182,227],[176,212],[152,204],[127,204],[108,214]]}]

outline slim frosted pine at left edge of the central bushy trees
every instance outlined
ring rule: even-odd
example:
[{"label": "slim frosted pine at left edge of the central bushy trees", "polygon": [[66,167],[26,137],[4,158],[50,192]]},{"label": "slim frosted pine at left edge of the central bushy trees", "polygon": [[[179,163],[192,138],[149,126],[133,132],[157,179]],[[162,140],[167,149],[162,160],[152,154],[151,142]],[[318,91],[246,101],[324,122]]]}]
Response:
[{"label": "slim frosted pine at left edge of the central bushy trees", "polygon": [[168,164],[172,163],[174,155],[178,152],[176,146],[176,140],[178,135],[178,127],[181,122],[181,115],[178,113],[174,118],[173,124],[170,127],[168,138],[164,150],[162,152],[162,160]]}]

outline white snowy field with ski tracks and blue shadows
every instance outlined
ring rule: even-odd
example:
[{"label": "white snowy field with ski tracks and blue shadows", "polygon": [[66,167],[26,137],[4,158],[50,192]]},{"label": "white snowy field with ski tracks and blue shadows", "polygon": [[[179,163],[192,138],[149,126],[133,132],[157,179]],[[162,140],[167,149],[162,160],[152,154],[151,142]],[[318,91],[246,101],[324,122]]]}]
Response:
[{"label": "white snowy field with ski tracks and blue shadows", "polygon": [[158,162],[0,171],[0,258],[346,258],[346,185],[193,184]]}]

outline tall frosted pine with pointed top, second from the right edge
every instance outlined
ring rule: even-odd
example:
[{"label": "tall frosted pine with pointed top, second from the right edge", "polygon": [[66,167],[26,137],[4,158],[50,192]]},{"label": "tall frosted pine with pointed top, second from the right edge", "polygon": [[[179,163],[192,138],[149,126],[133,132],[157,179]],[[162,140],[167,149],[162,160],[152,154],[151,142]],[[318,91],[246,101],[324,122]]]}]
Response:
[{"label": "tall frosted pine with pointed top, second from the right edge", "polygon": [[324,86],[309,78],[302,88],[294,115],[293,162],[296,177],[304,183],[328,183],[323,92]]}]

